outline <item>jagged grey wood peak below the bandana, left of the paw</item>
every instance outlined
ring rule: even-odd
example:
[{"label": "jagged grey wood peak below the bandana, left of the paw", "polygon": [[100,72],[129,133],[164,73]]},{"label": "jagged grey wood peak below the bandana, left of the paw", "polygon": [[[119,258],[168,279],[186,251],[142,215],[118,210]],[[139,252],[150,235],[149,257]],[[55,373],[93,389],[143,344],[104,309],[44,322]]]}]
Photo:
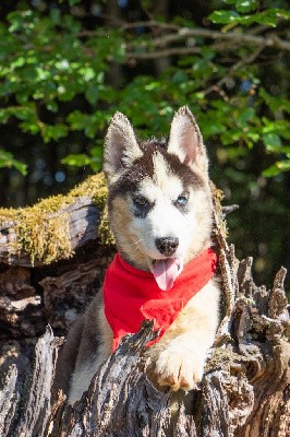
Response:
[{"label": "jagged grey wood peak below the bandana, left of the paw", "polygon": [[[74,409],[67,409],[59,427],[51,417],[51,436],[131,437],[160,433],[169,418],[169,395],[156,390],[142,371],[144,346],[156,336],[152,328],[152,322],[145,322],[137,334],[122,342],[97,373],[87,394]],[[52,428],[50,424],[48,427]]]}]

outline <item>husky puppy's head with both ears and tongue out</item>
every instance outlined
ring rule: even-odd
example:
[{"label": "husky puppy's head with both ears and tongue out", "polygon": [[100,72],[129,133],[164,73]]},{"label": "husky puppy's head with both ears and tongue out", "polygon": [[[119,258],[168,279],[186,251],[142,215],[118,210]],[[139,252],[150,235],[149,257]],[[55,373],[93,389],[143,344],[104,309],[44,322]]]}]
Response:
[{"label": "husky puppy's head with both ears and tongue out", "polygon": [[150,270],[171,288],[183,264],[209,245],[212,196],[208,160],[195,118],[180,108],[169,141],[138,141],[117,113],[105,140],[110,225],[131,264]]}]

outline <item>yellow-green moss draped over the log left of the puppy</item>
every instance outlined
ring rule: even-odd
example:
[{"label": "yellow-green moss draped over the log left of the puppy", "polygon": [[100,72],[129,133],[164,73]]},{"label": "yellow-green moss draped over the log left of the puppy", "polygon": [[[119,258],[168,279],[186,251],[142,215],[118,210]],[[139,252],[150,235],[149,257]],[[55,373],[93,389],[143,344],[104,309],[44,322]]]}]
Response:
[{"label": "yellow-green moss draped over the log left of the puppy", "polygon": [[70,244],[69,213],[65,211],[75,199],[88,196],[100,209],[98,235],[105,245],[113,244],[107,214],[107,187],[104,174],[88,177],[67,196],[40,200],[25,209],[0,209],[0,226],[14,222],[17,251],[27,253],[32,263],[39,260],[50,263],[73,255]]}]

